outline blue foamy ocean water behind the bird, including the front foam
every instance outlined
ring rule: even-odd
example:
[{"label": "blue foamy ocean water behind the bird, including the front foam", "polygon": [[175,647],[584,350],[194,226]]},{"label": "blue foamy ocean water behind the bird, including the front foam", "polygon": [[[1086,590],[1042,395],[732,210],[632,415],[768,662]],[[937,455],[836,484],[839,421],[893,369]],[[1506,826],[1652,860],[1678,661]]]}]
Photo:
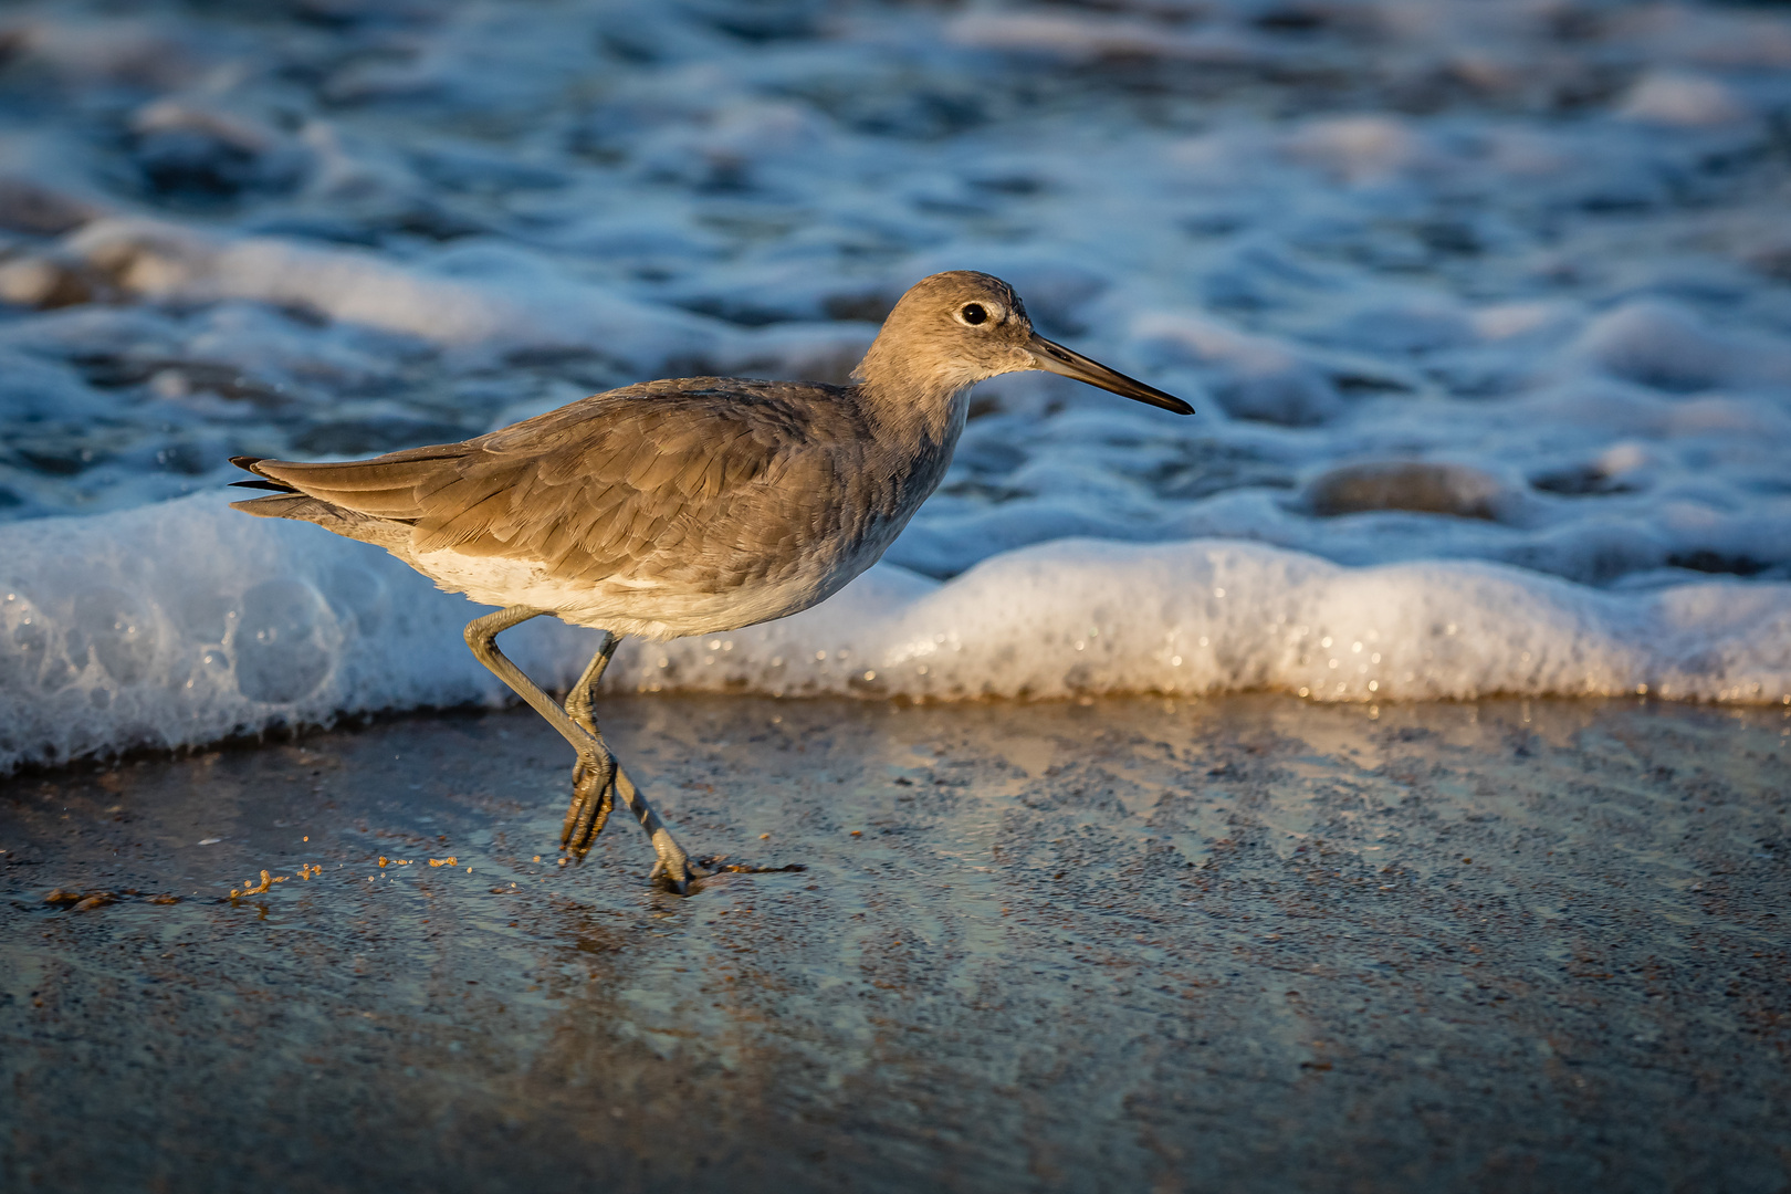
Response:
[{"label": "blue foamy ocean water behind the bird, including the front foam", "polygon": [[985,383],[883,566],[613,684],[1791,704],[1782,4],[57,0],[0,7],[0,768],[496,700],[227,456],[844,381],[942,269],[1200,415]]}]

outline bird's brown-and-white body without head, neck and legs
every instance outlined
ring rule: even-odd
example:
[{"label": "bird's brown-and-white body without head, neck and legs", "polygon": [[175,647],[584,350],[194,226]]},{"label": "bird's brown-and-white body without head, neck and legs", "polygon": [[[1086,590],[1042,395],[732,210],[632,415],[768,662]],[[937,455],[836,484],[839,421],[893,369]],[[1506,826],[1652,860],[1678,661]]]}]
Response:
[{"label": "bird's brown-and-white body without head, neck and legs", "polygon": [[949,451],[879,451],[853,388],[684,378],[462,444],[256,460],[294,492],[236,508],[378,542],[480,601],[672,637],[835,593],[883,553]]}]

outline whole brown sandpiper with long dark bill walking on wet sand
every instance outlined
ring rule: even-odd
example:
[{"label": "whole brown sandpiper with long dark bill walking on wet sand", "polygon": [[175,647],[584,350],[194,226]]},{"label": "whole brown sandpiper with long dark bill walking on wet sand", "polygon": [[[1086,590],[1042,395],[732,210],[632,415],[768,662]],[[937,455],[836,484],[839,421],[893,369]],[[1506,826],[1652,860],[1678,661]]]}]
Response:
[{"label": "whole brown sandpiper with long dark bill walking on wet sand", "polygon": [[[238,483],[276,496],[235,508],[378,544],[442,589],[501,605],[466,641],[578,752],[562,845],[582,857],[620,793],[659,852],[654,874],[684,890],[684,850],[591,718],[620,635],[734,630],[838,593],[946,474],[969,387],[1024,369],[1193,414],[1037,335],[1007,283],[958,270],[903,295],[853,387],[648,381],[464,444],[349,464],[238,456],[261,478]],[[605,632],[564,709],[496,644],[539,614]]]}]

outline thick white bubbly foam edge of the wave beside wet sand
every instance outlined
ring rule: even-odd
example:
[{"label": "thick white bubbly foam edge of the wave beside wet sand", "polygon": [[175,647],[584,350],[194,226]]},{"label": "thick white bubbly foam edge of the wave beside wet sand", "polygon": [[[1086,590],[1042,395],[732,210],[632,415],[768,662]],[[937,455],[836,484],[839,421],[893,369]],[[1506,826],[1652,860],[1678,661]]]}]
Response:
[{"label": "thick white bubbly foam edge of the wave beside wet sand", "polygon": [[[0,768],[505,696],[480,607],[383,551],[220,494],[0,528]],[[505,650],[570,684],[595,632]],[[804,614],[625,643],[611,691],[913,700],[1626,695],[1791,700],[1791,585],[1601,593],[1483,562],[1343,567],[1234,541],[1062,539],[949,582],[878,566]]]}]

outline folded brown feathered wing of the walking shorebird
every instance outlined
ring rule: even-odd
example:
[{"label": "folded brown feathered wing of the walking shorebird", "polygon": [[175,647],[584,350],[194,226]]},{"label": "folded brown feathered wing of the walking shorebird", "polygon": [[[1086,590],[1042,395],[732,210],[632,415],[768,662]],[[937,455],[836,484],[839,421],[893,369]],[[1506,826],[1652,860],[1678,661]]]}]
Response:
[{"label": "folded brown feathered wing of the walking shorebird", "polygon": [[[530,560],[568,580],[672,571],[745,580],[779,542],[826,533],[801,494],[842,478],[815,442],[813,397],[736,380],[652,383],[464,444],[254,471],[333,505],[408,523],[416,553]],[[827,405],[835,406],[835,405]],[[822,408],[822,417],[838,414]],[[822,503],[824,505],[824,503]],[[747,514],[750,510],[750,514]],[[745,517],[741,517],[745,516]]]}]

